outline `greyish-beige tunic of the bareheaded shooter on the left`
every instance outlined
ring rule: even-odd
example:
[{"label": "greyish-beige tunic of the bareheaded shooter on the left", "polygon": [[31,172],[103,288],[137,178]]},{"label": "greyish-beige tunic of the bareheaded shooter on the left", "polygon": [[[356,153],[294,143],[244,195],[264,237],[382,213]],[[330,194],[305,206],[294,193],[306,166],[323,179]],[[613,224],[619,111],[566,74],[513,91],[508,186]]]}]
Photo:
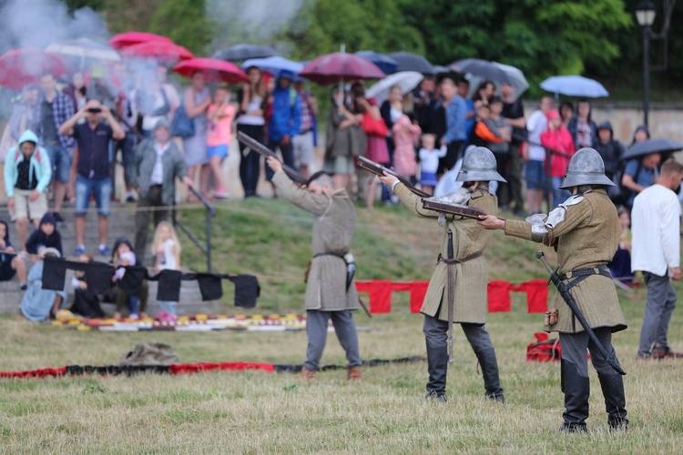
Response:
[{"label": "greyish-beige tunic of the bareheaded shooter on the left", "polygon": [[[316,195],[298,187],[281,171],[273,176],[272,182],[281,197],[316,215],[313,222],[313,256],[319,253],[343,255],[351,250],[356,211],[345,189],[331,195]],[[312,258],[305,308],[321,311],[359,308],[355,283],[346,291],[346,262],[342,258]]]}]

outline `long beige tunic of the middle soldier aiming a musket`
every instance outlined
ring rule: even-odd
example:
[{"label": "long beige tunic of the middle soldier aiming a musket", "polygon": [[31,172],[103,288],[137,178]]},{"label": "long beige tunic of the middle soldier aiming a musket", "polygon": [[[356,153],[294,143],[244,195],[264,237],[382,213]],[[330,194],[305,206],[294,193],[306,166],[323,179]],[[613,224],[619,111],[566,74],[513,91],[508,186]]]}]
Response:
[{"label": "long beige tunic of the middle soldier aiming a musket", "polygon": [[[431,218],[439,216],[439,212],[423,208],[422,197],[413,194],[403,184],[397,185],[394,191],[403,205],[410,208],[417,216]],[[481,208],[490,215],[498,213],[496,197],[481,189],[474,191],[468,205]],[[440,250],[442,258],[448,257],[448,229],[453,231],[454,258],[469,258],[484,251],[491,238],[491,231],[477,225],[476,220],[472,218],[448,216],[446,220]],[[488,312],[486,259],[480,256],[462,264],[455,264],[453,267],[455,276],[454,322],[484,324]],[[443,262],[436,265],[432,279],[429,281],[427,294],[424,296],[423,307],[420,309],[425,315],[436,316],[441,306],[438,317],[442,320],[448,320],[448,306],[445,304],[445,298],[448,297],[446,295],[447,269]],[[441,305],[442,297],[443,305]]]}]

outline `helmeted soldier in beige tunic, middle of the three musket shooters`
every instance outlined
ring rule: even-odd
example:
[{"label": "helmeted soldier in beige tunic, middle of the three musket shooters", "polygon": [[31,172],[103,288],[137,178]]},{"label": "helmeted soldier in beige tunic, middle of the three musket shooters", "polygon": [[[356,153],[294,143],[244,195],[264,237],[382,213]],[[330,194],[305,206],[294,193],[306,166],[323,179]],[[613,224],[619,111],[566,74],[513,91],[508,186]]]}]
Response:
[{"label": "helmeted soldier in beige tunic, middle of the three musket shooters", "polygon": [[[420,310],[424,315],[423,332],[429,372],[425,399],[446,401],[448,348],[449,340],[452,341],[448,336],[448,329],[456,322],[463,328],[479,360],[486,397],[505,402],[494,345],[484,328],[488,265],[483,252],[491,233],[479,227],[476,219],[444,215],[423,208],[422,198],[413,194],[396,177],[385,173],[380,179],[385,185],[392,187],[403,205],[418,217],[437,218],[443,227],[441,251]],[[505,182],[505,179],[496,172],[495,157],[489,149],[475,147],[467,153],[456,179],[464,182],[463,187],[445,195],[441,200],[476,207],[485,213],[498,212],[498,201],[489,192],[488,185],[491,180]],[[453,318],[450,324],[449,312]]]}]

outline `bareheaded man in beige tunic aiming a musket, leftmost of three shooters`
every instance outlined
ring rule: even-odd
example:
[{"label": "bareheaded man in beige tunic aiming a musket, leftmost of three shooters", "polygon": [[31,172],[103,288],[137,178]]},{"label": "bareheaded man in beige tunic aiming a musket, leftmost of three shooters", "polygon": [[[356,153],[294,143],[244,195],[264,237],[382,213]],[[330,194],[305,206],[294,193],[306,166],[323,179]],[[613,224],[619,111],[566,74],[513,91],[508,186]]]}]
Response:
[{"label": "bareheaded man in beige tunic aiming a musket, leftmost of three shooters", "polygon": [[280,161],[267,160],[275,172],[272,183],[278,195],[314,214],[311,269],[306,286],[306,333],[309,344],[301,378],[314,379],[327,340],[331,319],[349,360],[348,379],[361,379],[358,335],[351,310],[358,309],[358,292],[347,283],[346,258],[351,251],[356,211],[346,189],[332,189],[326,174],[313,175],[307,187],[299,187],[282,171]]}]

